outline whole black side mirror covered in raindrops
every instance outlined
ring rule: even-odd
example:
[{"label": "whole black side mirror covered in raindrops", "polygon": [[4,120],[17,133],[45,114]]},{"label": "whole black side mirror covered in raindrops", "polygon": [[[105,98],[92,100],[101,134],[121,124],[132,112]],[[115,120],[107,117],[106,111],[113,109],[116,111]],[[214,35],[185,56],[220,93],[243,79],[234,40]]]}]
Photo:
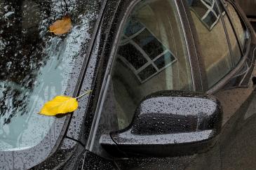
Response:
[{"label": "whole black side mirror covered in raindrops", "polygon": [[215,144],[222,114],[220,102],[208,94],[156,92],[142,100],[129,127],[102,135],[100,143],[109,153],[126,155],[194,154]]}]

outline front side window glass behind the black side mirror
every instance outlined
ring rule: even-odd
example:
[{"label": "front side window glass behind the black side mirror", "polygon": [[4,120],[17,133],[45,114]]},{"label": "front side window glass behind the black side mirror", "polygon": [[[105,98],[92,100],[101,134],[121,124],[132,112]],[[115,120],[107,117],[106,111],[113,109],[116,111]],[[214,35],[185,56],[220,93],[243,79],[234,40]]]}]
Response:
[{"label": "front side window glass behind the black side mirror", "polygon": [[161,90],[194,90],[175,1],[137,3],[122,32],[95,137],[99,154],[100,135],[128,127],[144,97]]}]

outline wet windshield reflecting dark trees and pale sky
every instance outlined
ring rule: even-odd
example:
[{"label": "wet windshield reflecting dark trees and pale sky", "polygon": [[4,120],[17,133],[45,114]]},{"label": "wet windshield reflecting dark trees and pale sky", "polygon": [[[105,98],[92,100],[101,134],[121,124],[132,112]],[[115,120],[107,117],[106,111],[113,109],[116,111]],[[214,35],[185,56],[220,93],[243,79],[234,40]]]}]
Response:
[{"label": "wet windshield reflecting dark trees and pale sky", "polygon": [[[50,24],[65,15],[72,30],[50,33]],[[74,66],[82,65],[79,51],[95,19],[75,1],[0,0],[0,151],[32,148],[46,136],[58,118],[38,113],[53,97],[73,95]]]}]

